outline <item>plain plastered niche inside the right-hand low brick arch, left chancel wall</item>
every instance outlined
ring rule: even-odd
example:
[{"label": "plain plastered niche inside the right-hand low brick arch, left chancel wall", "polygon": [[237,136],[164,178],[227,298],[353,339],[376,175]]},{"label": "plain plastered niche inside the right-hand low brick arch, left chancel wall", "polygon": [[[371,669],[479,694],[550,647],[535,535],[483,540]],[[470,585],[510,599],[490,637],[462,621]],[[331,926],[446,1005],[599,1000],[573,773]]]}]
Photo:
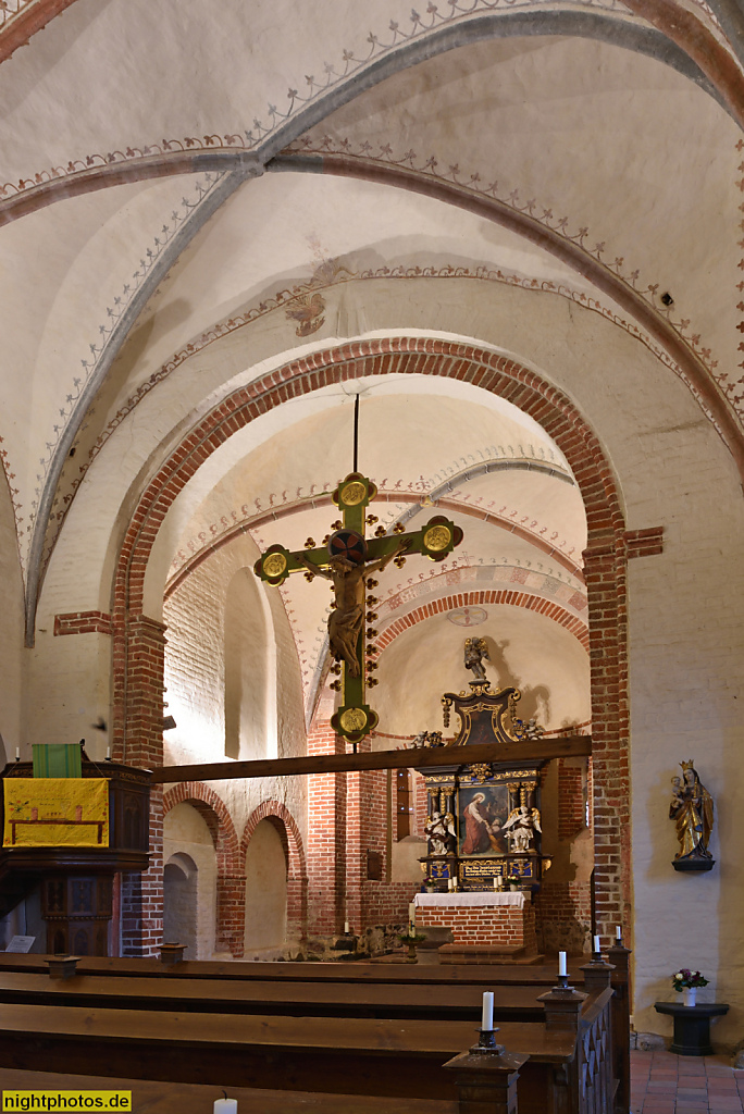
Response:
[{"label": "plain plastered niche inside the right-hand low brick arch, left chancel wall", "polygon": [[276,817],[261,820],[245,853],[245,957],[286,944],[286,830]]}]

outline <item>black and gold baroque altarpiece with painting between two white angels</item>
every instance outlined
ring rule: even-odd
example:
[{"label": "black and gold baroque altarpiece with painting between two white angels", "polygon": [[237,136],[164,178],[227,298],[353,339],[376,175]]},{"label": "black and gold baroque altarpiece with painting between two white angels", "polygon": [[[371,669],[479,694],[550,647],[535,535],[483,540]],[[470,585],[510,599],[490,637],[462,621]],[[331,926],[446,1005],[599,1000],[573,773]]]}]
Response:
[{"label": "black and gold baroque altarpiece with painting between two white angels", "polygon": [[469,745],[513,744],[536,734],[517,719],[517,688],[492,692],[484,678],[469,684],[470,693],[442,696],[444,727],[452,711],[460,717],[457,737],[442,744],[439,733],[428,736],[429,745],[460,753],[456,762],[442,754],[442,765],[424,774],[425,883],[434,891],[512,887],[537,892],[550,866],[541,850],[540,819],[540,771],[547,759],[469,764],[462,753]]}]

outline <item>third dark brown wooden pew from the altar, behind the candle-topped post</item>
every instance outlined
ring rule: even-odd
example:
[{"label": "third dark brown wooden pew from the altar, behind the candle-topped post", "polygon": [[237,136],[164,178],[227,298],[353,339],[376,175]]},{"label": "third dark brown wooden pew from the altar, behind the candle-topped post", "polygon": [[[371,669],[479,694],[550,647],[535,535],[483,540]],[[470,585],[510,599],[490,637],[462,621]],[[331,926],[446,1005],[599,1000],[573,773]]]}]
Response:
[{"label": "third dark brown wooden pew from the altar, behind the candle-topped post", "polygon": [[[469,1022],[174,1014],[72,1006],[0,1006],[0,1067],[81,1072],[232,1087],[456,1098],[442,1065],[474,1040]],[[499,1037],[529,1051],[521,1114],[545,1114],[576,1037],[506,1023]],[[529,1078],[528,1078],[529,1075]],[[520,1079],[521,1082],[521,1079]]]}]

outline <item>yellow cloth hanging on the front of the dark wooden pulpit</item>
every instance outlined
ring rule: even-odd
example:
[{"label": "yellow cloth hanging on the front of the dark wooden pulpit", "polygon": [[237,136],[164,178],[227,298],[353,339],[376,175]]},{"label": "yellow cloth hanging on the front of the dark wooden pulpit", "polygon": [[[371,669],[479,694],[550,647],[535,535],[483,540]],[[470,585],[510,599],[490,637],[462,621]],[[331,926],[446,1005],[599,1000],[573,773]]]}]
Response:
[{"label": "yellow cloth hanging on the front of the dark wooden pulpit", "polygon": [[6,778],[3,847],[108,847],[108,778]]}]

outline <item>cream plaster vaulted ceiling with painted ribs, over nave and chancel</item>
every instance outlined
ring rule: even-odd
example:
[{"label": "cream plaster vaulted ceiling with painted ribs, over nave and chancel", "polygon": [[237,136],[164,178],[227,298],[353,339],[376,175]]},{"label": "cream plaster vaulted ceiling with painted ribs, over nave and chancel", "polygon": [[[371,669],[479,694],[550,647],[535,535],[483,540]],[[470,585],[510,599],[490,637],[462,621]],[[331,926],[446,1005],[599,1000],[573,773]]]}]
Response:
[{"label": "cream plaster vaulted ceiling with painted ribs, over nave and chancel", "polygon": [[[719,72],[650,8],[614,0],[419,14],[225,0],[217,17],[203,0],[77,0],[4,61],[0,437],[29,639],[45,576],[59,595],[66,530],[95,521],[91,553],[110,554],[200,417],[349,339],[441,332],[527,365],[540,351],[549,380],[555,295],[638,338],[738,452],[734,63],[711,10],[684,11]],[[587,373],[611,351],[593,344],[570,352]],[[467,531],[427,593],[499,565],[580,596],[581,501],[539,427],[452,383],[356,389],[381,520],[433,492]],[[350,413],[343,390],[311,393],[216,452],[161,528],[153,606],[202,535],[322,537],[335,516],[309,499],[351,469]],[[285,604],[311,701],[326,597],[304,588]],[[389,571],[384,598],[407,590]]]}]

